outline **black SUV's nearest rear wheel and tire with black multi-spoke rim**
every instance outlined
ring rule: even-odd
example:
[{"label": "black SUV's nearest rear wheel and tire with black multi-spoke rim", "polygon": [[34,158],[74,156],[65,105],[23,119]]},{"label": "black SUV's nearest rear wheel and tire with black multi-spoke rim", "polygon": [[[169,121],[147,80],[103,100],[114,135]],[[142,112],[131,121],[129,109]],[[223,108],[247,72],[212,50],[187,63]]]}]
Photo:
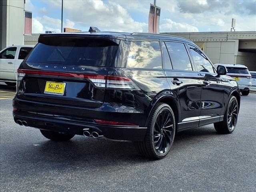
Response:
[{"label": "black SUV's nearest rear wheel and tire with black multi-spoke rim", "polygon": [[151,159],[162,159],[170,151],[176,131],[172,108],[159,103],[150,114],[144,141],[135,142],[140,154]]}]

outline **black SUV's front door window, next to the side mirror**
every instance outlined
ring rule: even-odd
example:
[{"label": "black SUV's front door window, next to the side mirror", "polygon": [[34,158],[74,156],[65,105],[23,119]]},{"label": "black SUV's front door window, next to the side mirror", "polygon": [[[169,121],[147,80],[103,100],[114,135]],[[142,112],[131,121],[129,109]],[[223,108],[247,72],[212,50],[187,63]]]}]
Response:
[{"label": "black SUV's front door window, next to the side mirror", "polygon": [[200,72],[214,73],[212,64],[207,60],[201,50],[193,46],[189,46],[189,48],[197,70]]}]

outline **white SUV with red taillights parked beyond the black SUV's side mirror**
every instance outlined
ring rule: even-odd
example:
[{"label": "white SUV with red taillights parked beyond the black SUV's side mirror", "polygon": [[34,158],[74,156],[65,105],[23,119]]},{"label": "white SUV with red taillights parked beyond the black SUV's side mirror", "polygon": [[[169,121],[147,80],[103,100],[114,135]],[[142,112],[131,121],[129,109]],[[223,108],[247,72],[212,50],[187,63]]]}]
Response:
[{"label": "white SUV with red taillights parked beyond the black SUV's side mirror", "polygon": [[217,68],[219,65],[227,68],[227,75],[236,80],[242,95],[248,95],[252,87],[252,76],[248,68],[244,65],[234,64],[215,64],[214,67]]}]

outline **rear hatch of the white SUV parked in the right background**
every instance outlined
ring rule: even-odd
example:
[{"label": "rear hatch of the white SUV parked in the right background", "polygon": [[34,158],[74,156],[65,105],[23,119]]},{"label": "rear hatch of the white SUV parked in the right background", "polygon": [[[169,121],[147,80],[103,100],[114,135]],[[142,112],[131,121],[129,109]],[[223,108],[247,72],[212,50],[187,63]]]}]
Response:
[{"label": "rear hatch of the white SUV parked in the right background", "polygon": [[237,81],[238,85],[247,85],[251,82],[252,76],[246,67],[227,67],[228,76]]}]

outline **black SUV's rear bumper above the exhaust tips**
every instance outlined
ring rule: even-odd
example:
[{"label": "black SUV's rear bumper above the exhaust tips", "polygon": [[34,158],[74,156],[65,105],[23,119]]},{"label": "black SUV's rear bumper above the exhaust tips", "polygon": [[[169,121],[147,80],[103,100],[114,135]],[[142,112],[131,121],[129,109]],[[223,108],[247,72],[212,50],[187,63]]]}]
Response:
[{"label": "black SUV's rear bumper above the exhaust tips", "polygon": [[[79,111],[80,116],[73,114],[73,116],[68,115],[68,112],[71,113],[71,108],[68,109],[58,107],[58,112],[46,112],[50,106],[43,106],[39,103],[27,102],[18,100],[14,98],[13,106],[17,110],[13,112],[14,121],[17,120],[26,121],[28,126],[39,128],[43,130],[51,130],[56,132],[65,132],[71,134],[83,135],[83,129],[89,128],[90,132],[97,131],[99,134],[103,135],[106,138],[113,140],[128,140],[128,141],[143,141],[146,135],[147,128],[144,126],[115,126],[115,125],[106,125],[106,124],[97,124],[93,119],[94,112],[88,110]],[[56,106],[55,106],[56,107]],[[36,110],[36,111],[35,111]],[[40,112],[38,112],[40,111]],[[62,112],[62,114],[60,114]],[[63,114],[66,114],[64,115]],[[74,112],[74,111],[73,111]],[[82,117],[81,114],[89,114],[91,118]],[[120,116],[125,115],[126,121],[136,118],[140,118],[140,114],[134,113],[125,113],[125,114],[116,114],[116,117],[113,118],[111,112],[98,112],[100,117],[106,118],[106,116],[111,117],[112,121],[122,121],[123,119]],[[88,115],[87,115],[88,117]],[[101,119],[101,118],[96,118]]]}]

